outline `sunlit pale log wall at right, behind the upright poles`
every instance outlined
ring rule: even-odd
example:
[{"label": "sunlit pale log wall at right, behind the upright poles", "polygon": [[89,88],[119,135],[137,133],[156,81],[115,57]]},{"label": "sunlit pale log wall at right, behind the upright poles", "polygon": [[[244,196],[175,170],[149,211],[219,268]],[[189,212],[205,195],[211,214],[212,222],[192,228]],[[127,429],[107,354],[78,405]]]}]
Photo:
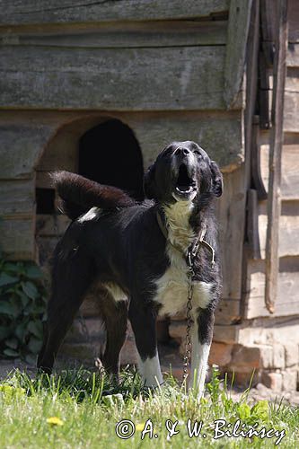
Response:
[{"label": "sunlit pale log wall at right, behind the upright poles", "polygon": [[[287,78],[284,110],[284,146],[282,152],[282,211],[279,228],[278,296],[274,316],[299,313],[299,5],[288,2]],[[271,69],[268,70],[268,101],[272,97]],[[261,178],[268,189],[269,131],[259,132]],[[265,307],[265,246],[267,233],[267,200],[258,202],[257,231],[259,255],[250,260],[247,272],[244,317],[268,317]]]}]

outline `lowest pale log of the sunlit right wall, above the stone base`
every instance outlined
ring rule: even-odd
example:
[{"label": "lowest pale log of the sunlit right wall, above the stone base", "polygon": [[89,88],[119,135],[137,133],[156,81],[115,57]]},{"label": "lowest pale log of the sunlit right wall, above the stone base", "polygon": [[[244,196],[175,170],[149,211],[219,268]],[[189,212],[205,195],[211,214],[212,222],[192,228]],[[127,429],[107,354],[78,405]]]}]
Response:
[{"label": "lowest pale log of the sunlit right wall, above the stone base", "polygon": [[[248,270],[248,296],[244,318],[269,316],[265,302],[265,262],[252,260]],[[277,301],[271,316],[287,316],[299,313],[299,258],[280,260],[277,277]]]}]

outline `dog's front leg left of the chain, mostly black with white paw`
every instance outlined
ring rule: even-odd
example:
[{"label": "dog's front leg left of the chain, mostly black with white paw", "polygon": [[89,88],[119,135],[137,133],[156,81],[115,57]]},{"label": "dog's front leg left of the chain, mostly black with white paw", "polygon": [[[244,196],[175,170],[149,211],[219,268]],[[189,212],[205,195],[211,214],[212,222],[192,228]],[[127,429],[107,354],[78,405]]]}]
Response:
[{"label": "dog's front leg left of the chain, mostly black with white paw", "polygon": [[140,307],[140,305],[130,308],[129,320],[138,351],[138,371],[146,387],[156,387],[163,383],[163,376],[157,350],[153,310],[151,307]]}]

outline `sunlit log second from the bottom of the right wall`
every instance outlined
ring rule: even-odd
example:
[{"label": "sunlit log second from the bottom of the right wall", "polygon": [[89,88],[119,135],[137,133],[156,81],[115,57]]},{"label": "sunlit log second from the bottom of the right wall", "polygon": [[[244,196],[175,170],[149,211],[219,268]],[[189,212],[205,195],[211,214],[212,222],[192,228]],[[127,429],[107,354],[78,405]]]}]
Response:
[{"label": "sunlit log second from the bottom of the right wall", "polygon": [[[259,202],[257,215],[259,217],[260,259],[265,259],[268,223],[267,201]],[[278,256],[299,256],[299,201],[286,201],[282,203],[279,220]]]}]

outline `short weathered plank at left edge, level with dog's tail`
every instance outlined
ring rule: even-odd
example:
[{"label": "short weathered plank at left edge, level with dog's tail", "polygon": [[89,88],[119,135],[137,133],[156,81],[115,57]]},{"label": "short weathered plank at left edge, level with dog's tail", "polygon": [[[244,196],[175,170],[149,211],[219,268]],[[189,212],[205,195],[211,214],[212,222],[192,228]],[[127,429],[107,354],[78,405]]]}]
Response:
[{"label": "short weathered plank at left edge, level with dog's tail", "polygon": [[35,211],[32,180],[0,180],[0,216],[31,216]]}]

